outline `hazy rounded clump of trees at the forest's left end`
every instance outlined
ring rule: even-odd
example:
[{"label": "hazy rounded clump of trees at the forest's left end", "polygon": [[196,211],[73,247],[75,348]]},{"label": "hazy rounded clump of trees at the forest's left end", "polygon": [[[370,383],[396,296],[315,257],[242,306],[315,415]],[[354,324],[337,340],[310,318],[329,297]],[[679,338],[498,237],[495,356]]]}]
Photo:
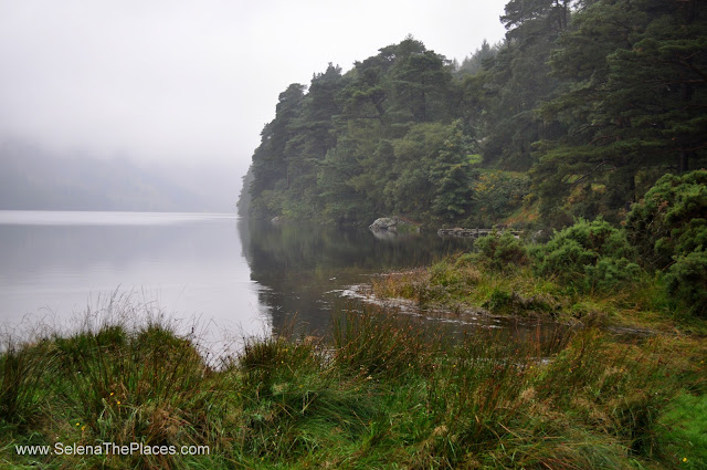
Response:
[{"label": "hazy rounded clump of trees at the forest's left end", "polygon": [[407,38],[291,85],[253,155],[250,216],[369,223],[468,213],[469,137],[446,59]]}]

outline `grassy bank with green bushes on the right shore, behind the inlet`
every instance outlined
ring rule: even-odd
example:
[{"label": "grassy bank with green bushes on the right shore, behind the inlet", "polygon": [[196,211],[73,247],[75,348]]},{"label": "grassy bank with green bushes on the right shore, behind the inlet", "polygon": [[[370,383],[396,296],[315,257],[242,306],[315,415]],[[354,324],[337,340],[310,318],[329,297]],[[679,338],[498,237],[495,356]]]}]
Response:
[{"label": "grassy bank with green bushes on the right shore, behind the inlet", "polygon": [[601,219],[579,219],[546,243],[494,231],[477,239],[473,252],[377,276],[372,292],[451,311],[705,335],[701,250],[699,244],[688,255],[675,254],[672,263],[656,269],[625,230]]}]

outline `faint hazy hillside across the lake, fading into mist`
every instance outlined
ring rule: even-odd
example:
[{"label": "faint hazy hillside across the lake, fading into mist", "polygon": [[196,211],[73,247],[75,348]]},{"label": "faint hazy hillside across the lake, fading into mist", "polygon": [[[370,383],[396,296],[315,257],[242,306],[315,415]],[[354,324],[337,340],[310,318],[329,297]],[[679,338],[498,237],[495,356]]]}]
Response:
[{"label": "faint hazy hillside across the lake, fading into mist", "polygon": [[[213,168],[212,168],[213,167]],[[218,164],[141,167],[127,158],[61,157],[38,146],[0,143],[0,209],[231,211],[233,175]]]}]

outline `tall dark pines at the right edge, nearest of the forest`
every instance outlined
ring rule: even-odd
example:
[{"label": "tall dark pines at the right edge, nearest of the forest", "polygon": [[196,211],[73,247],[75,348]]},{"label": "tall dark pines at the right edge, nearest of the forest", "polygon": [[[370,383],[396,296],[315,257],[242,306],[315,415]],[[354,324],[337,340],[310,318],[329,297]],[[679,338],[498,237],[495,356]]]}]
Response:
[{"label": "tall dark pines at the right edge, nearest of the forest", "polygon": [[539,106],[568,129],[536,145],[534,186],[556,223],[619,221],[657,176],[699,167],[706,148],[698,2],[582,3],[551,53],[563,85]]}]

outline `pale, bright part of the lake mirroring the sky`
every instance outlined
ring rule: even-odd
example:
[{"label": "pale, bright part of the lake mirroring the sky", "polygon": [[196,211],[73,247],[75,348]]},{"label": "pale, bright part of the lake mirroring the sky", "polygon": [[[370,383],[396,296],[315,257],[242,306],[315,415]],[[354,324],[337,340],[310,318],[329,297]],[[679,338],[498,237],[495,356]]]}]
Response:
[{"label": "pale, bright part of the lake mirroring the sky", "polygon": [[211,336],[268,330],[235,218],[131,212],[0,213],[0,324],[65,323],[116,289]]}]

